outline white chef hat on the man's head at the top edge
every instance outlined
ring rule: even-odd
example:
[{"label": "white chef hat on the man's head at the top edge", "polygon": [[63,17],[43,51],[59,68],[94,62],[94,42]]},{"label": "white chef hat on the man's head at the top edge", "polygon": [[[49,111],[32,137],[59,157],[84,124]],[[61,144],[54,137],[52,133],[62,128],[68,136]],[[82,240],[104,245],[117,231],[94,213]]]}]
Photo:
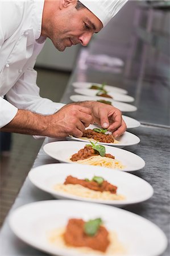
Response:
[{"label": "white chef hat on the man's head at the top edge", "polygon": [[103,27],[125,5],[127,0],[79,0],[86,8],[101,20]]}]

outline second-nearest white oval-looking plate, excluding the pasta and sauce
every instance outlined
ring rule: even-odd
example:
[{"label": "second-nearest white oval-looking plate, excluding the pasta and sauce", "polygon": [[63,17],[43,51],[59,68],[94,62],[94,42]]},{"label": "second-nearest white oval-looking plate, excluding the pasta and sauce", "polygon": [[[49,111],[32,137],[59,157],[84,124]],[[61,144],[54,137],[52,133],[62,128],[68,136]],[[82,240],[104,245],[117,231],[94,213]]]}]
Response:
[{"label": "second-nearest white oval-looking plate, excluding the pasta and sauce", "polygon": [[[103,170],[101,170],[103,169]],[[67,176],[72,175],[78,179],[91,180],[94,176],[103,177],[109,183],[118,187],[117,193],[126,197],[125,200],[102,200],[88,199],[80,196],[74,196],[67,192],[55,191],[53,187],[56,184],[63,184]],[[50,193],[57,199],[74,199],[82,201],[92,201],[101,204],[111,204],[122,207],[123,205],[139,203],[149,199],[154,190],[147,181],[140,177],[128,174],[127,172],[119,172],[105,170],[97,166],[84,166],[81,168],[78,164],[45,164],[43,166],[32,169],[28,177],[31,182],[38,188]]]}]

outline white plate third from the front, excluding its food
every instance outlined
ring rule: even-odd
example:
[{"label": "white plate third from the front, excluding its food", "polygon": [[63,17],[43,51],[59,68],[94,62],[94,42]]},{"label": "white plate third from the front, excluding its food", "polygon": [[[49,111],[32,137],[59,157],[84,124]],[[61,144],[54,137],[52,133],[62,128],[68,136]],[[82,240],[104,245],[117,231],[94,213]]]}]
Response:
[{"label": "white plate third from the front, excluding its food", "polygon": [[[63,163],[69,162],[69,158],[78,152],[81,148],[84,148],[86,142],[73,142],[73,141],[57,141],[51,142],[44,145],[44,151],[47,155],[55,158]],[[127,150],[122,150],[117,147],[105,146],[106,153],[115,156],[115,159],[122,162],[125,168],[123,171],[136,171],[144,167],[145,162],[140,156],[131,153]],[[108,169],[109,170],[109,169]],[[114,170],[113,170],[114,171]]]}]

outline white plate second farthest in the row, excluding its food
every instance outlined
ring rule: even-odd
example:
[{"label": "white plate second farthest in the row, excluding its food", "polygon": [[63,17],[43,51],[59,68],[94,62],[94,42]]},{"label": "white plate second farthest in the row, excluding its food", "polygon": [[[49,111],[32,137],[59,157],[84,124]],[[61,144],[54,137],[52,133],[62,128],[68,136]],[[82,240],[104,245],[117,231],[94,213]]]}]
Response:
[{"label": "white plate second farthest in the row, excluding its food", "polygon": [[[96,96],[98,98],[101,98],[100,96],[96,95],[98,90],[76,88],[76,89],[74,89],[74,92],[76,92],[78,94],[85,95],[85,96],[90,96],[90,97]],[[112,100],[115,100],[115,101],[123,101],[123,102],[132,102],[132,101],[134,101],[133,97],[131,97],[129,95],[126,95],[126,94],[115,93],[115,92],[109,92],[108,94],[111,97],[113,97]],[[105,99],[106,101],[110,100],[110,98],[106,98],[106,97],[102,97],[102,98]]]}]

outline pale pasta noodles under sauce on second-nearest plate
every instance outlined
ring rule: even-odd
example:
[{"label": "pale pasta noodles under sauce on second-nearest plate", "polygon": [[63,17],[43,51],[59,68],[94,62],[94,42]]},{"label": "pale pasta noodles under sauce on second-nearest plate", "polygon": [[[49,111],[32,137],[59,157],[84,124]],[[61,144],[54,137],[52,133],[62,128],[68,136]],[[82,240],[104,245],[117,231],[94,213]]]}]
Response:
[{"label": "pale pasta noodles under sauce on second-nearest plate", "polygon": [[94,191],[89,188],[85,188],[79,184],[56,184],[54,187],[55,191],[65,192],[74,196],[85,197],[89,199],[100,199],[100,200],[124,200],[125,196],[110,193],[109,191]]}]

